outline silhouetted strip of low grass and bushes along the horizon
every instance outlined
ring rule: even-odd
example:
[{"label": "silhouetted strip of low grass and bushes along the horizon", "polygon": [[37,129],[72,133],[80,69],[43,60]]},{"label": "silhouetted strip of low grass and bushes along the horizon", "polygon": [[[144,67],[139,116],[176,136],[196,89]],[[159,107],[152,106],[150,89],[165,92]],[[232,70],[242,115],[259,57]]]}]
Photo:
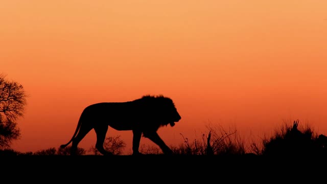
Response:
[{"label": "silhouetted strip of low grass and bushes along the horizon", "polygon": [[[183,135],[182,135],[183,136]],[[265,137],[261,143],[245,146],[236,131],[226,132],[221,127],[209,127],[208,133],[202,135],[202,140],[184,138],[179,146],[171,146],[174,155],[248,155],[248,156],[327,156],[327,136],[317,134],[312,128],[300,128],[298,121],[285,124],[273,135]],[[106,150],[113,155],[123,154],[126,147],[120,136],[107,137],[104,143]],[[10,148],[1,149],[0,155],[70,155],[69,146],[49,148],[37,152],[18,152]],[[162,155],[157,146],[142,145],[140,152],[144,155]],[[97,149],[78,149],[78,155],[101,155]]]}]

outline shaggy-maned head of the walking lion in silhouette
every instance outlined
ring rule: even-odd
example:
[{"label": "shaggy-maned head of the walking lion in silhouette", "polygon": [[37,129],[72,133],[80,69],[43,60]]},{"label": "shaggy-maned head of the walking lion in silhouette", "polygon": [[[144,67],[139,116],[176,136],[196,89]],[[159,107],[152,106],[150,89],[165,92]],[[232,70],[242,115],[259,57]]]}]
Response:
[{"label": "shaggy-maned head of the walking lion in silhouette", "polygon": [[159,96],[143,96],[142,99],[145,102],[149,109],[149,116],[151,119],[160,126],[175,126],[175,122],[178,122],[181,117],[175,107],[174,102],[162,95]]}]

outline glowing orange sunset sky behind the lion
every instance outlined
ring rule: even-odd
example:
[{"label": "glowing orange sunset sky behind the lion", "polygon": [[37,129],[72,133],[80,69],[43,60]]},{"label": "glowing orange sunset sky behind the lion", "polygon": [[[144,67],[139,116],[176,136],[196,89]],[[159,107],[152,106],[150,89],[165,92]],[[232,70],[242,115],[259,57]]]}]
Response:
[{"label": "glowing orange sunset sky behind the lion", "polygon": [[[18,151],[66,143],[89,104],[146,94],[181,114],[159,130],[169,145],[209,122],[258,138],[299,119],[327,134],[327,1],[0,3],[0,73],[30,95]],[[92,131],[79,146],[94,145]]]}]

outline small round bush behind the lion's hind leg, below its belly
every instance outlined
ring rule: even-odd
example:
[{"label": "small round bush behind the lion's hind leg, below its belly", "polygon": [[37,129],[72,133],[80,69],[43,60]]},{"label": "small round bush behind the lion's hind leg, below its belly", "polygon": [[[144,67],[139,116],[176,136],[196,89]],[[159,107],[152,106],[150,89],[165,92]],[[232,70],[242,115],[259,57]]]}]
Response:
[{"label": "small round bush behind the lion's hind leg, below its belly", "polygon": [[[103,143],[103,147],[105,148],[105,150],[111,152],[113,155],[121,155],[123,153],[123,149],[126,147],[126,143],[121,140],[120,135],[113,137],[109,136],[106,137]],[[94,146],[89,149],[89,152],[95,155],[101,155],[98,149]]]}]

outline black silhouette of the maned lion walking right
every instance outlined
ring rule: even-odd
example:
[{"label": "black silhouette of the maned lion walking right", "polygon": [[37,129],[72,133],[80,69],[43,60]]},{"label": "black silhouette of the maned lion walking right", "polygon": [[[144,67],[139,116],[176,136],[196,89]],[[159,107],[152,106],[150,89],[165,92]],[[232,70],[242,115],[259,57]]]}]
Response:
[{"label": "black silhouette of the maned lion walking right", "polygon": [[101,102],[87,106],[81,113],[72,139],[60,148],[72,143],[71,153],[74,155],[77,146],[92,129],[96,132],[96,148],[103,155],[112,153],[103,147],[108,127],[115,130],[133,132],[132,155],[139,155],[139,143],[142,135],[159,146],[164,154],[172,154],[172,150],[157,134],[159,127],[171,127],[181,119],[173,101],[162,95],[146,95],[140,99],[127,102]]}]

